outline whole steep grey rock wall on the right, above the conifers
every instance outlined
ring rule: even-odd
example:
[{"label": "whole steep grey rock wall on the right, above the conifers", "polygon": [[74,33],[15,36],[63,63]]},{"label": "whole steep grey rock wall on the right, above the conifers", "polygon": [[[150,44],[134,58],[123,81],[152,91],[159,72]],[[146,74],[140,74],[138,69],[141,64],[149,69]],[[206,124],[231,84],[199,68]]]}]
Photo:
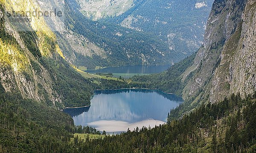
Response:
[{"label": "whole steep grey rock wall on the right, above the conifers", "polygon": [[194,102],[217,102],[232,93],[255,90],[255,0],[215,0],[204,47],[184,73],[194,73],[183,96]]}]

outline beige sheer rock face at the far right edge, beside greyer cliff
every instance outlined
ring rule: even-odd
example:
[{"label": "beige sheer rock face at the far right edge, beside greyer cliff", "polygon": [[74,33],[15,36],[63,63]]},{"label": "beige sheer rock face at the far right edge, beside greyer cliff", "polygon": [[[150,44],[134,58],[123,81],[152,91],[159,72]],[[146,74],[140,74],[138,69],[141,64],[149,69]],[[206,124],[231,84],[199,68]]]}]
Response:
[{"label": "beige sheer rock face at the far right edge, beside greyer cliff", "polygon": [[230,63],[230,93],[253,94],[256,89],[256,0],[248,0],[242,16],[238,48]]}]

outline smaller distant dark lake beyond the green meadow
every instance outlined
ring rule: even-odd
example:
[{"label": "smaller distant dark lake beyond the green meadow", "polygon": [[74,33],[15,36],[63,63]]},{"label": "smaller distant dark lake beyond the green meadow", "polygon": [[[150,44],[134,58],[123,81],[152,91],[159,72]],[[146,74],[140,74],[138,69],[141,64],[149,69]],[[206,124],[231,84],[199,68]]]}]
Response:
[{"label": "smaller distant dark lake beyond the green meadow", "polygon": [[170,66],[168,65],[153,65],[153,66],[120,66],[120,67],[108,67],[98,70],[86,70],[85,72],[96,74],[96,73],[112,73],[114,77],[122,76],[124,78],[132,77],[136,74],[155,74],[166,71]]}]

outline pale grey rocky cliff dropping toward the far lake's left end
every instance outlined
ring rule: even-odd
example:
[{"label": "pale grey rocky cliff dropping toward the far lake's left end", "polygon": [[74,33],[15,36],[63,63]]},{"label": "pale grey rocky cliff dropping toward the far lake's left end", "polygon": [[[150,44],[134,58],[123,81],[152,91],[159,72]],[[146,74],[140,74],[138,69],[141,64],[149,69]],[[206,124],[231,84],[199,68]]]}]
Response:
[{"label": "pale grey rocky cliff dropping toward the far lake's left end", "polygon": [[90,61],[88,59],[93,56],[99,56],[99,58],[105,59],[106,54],[103,48],[88,40],[76,31],[72,31],[67,24],[67,20],[70,19],[67,2],[64,0],[37,0],[40,4],[41,10],[54,10],[58,9],[62,12],[63,17],[60,19],[55,16],[45,17],[47,25],[55,33],[57,42],[63,52],[63,55],[70,64],[82,65]]}]

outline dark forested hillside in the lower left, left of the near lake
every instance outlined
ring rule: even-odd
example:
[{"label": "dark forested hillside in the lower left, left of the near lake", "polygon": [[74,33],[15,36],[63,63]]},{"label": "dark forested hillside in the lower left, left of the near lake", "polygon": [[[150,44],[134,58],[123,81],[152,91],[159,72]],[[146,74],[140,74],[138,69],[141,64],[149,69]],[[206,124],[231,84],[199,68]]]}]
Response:
[{"label": "dark forested hillside in the lower left, left of the near lake", "polygon": [[0,153],[74,152],[73,119],[0,85]]}]

